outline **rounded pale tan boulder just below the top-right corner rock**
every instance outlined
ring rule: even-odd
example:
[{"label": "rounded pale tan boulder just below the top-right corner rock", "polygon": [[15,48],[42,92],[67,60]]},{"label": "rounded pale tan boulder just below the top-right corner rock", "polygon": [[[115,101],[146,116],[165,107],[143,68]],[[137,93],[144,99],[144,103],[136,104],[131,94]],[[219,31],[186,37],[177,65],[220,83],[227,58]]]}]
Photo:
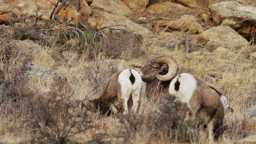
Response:
[{"label": "rounded pale tan boulder just below the top-right corner rock", "polygon": [[248,41],[229,26],[215,26],[200,34],[207,40],[207,45],[223,46],[232,48],[234,46],[246,46]]}]

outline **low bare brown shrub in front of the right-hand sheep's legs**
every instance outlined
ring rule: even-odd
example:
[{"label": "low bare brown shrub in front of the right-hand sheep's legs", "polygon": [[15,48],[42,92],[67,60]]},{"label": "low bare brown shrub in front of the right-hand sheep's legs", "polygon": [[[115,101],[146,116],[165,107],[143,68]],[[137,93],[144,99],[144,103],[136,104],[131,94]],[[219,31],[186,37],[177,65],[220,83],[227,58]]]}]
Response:
[{"label": "low bare brown shrub in front of the right-hand sheep's legs", "polygon": [[123,125],[123,132],[118,134],[123,134],[125,142],[135,139],[138,134],[143,137],[143,132],[151,132],[148,143],[154,140],[196,142],[199,139],[199,131],[195,122],[185,121],[187,111],[186,104],[169,100],[149,115],[118,115],[117,118]]}]

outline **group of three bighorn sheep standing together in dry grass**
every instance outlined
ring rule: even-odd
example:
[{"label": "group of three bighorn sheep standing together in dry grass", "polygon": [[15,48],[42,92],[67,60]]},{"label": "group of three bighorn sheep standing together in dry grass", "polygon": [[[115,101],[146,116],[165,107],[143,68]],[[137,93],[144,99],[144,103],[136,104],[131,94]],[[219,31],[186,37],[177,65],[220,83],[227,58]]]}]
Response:
[{"label": "group of three bighorn sheep standing together in dry grass", "polygon": [[[177,74],[178,63],[169,55],[151,55],[139,72],[125,69],[112,77],[101,96],[82,102],[85,113],[128,114],[130,110],[138,113],[141,102],[142,81],[146,82],[146,97],[174,97],[186,103],[190,109],[188,118],[198,123],[206,122],[208,140],[218,139],[224,130],[225,110],[231,110],[226,97],[196,76],[188,73]],[[156,88],[160,85],[160,88]]]}]

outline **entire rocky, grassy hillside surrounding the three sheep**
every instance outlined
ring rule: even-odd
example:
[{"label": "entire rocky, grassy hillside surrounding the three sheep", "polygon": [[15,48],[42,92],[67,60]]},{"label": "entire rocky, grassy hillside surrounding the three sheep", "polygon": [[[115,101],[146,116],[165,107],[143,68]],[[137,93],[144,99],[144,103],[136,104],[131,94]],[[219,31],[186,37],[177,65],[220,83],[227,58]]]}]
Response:
[{"label": "entire rocky, grassy hillside surrounding the three sheep", "polygon": [[255,0],[0,0],[0,140],[205,143],[182,127],[192,123],[174,126],[183,118],[175,104],[157,117],[159,103],[144,90],[140,116],[79,112],[113,74],[170,54],[180,73],[214,86],[233,107],[218,142],[256,142],[255,40]]}]

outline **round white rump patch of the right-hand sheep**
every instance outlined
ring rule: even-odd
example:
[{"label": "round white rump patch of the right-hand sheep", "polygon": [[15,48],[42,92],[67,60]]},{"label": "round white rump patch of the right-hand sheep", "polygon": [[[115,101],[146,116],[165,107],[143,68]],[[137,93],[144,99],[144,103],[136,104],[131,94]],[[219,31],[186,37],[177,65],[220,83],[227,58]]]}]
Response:
[{"label": "round white rump patch of the right-hand sheep", "polygon": [[[178,91],[175,90],[175,83],[179,81]],[[180,102],[189,104],[194,91],[197,88],[197,81],[192,74],[182,73],[176,76],[169,87],[169,94],[175,96]]]}]

